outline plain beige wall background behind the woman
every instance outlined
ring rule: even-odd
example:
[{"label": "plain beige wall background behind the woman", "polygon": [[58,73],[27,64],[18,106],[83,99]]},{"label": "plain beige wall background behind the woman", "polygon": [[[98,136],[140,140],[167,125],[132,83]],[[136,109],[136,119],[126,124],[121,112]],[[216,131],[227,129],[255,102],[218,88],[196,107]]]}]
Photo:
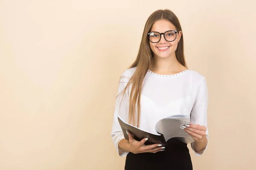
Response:
[{"label": "plain beige wall background behind the woman", "polygon": [[145,21],[175,12],[186,61],[207,78],[209,147],[195,170],[256,169],[256,3],[0,0],[0,170],[122,170],[117,82]]}]

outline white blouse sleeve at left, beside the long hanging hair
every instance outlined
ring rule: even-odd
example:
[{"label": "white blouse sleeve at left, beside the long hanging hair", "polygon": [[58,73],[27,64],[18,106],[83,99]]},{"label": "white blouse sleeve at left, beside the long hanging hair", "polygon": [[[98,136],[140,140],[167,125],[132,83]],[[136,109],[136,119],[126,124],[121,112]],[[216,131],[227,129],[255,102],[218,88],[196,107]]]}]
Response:
[{"label": "white blouse sleeve at left, beside the long hanging hair", "polygon": [[[124,150],[120,149],[118,147],[118,143],[121,139],[124,139],[124,134],[122,132],[122,128],[119,125],[117,116],[122,117],[125,121],[128,119],[128,109],[129,109],[129,97],[128,97],[128,91],[125,91],[124,96],[123,93],[120,94],[125,86],[127,85],[129,81],[129,77],[127,76],[127,71],[125,70],[122,73],[122,76],[120,77],[118,89],[117,89],[117,97],[116,97],[116,103],[115,103],[115,109],[113,113],[113,124],[112,124],[112,130],[111,130],[111,138],[113,140],[113,144],[116,148],[117,153],[119,156],[124,157],[129,152],[125,152]],[[127,88],[128,89],[128,88]],[[120,94],[120,95],[119,95]],[[122,101],[122,102],[121,102]]]}]

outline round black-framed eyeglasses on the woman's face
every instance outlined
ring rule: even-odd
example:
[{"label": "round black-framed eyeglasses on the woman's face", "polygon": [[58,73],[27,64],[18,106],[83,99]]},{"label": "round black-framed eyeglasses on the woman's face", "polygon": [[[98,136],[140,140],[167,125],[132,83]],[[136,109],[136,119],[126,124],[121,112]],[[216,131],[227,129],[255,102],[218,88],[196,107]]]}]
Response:
[{"label": "round black-framed eyeglasses on the woman's face", "polygon": [[169,42],[176,40],[176,37],[177,37],[177,31],[169,30],[169,31],[166,31],[165,33],[150,32],[148,33],[148,39],[150,42],[157,43],[161,40],[162,34],[164,39],[166,39],[166,41],[169,41]]}]

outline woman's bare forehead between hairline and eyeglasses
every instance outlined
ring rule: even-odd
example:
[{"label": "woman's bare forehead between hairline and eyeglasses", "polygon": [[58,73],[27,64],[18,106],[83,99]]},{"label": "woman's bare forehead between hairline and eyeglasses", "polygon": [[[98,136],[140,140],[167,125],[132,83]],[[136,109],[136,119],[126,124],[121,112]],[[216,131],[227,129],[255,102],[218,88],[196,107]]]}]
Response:
[{"label": "woman's bare forehead between hairline and eyeglasses", "polygon": [[170,21],[165,19],[156,21],[151,28],[151,31],[157,31],[160,33],[168,30],[176,30],[176,28]]}]

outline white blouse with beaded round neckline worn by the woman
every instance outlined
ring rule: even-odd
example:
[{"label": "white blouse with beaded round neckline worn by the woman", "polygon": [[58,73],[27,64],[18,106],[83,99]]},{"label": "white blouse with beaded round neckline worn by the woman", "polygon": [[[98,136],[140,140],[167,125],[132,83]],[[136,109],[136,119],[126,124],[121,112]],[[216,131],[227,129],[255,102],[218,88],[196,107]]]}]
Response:
[{"label": "white blouse with beaded round neckline worn by the woman", "polygon": [[[136,67],[129,68],[122,73],[117,94],[125,88],[135,70]],[[118,148],[118,142],[124,138],[124,135],[117,116],[121,116],[128,122],[128,94],[130,91],[131,85],[128,91],[125,91],[123,99],[122,94],[116,98],[113,114],[111,138],[121,157],[126,156],[128,152]],[[160,119],[175,114],[189,115],[191,123],[207,127],[208,89],[206,79],[198,72],[189,69],[174,75],[160,75],[148,70],[143,80],[140,105],[139,128],[151,133],[157,133],[154,127]],[[209,139],[208,128],[206,135]],[[193,143],[191,147],[195,151]],[[195,152],[198,156],[202,153],[204,151]]]}]

